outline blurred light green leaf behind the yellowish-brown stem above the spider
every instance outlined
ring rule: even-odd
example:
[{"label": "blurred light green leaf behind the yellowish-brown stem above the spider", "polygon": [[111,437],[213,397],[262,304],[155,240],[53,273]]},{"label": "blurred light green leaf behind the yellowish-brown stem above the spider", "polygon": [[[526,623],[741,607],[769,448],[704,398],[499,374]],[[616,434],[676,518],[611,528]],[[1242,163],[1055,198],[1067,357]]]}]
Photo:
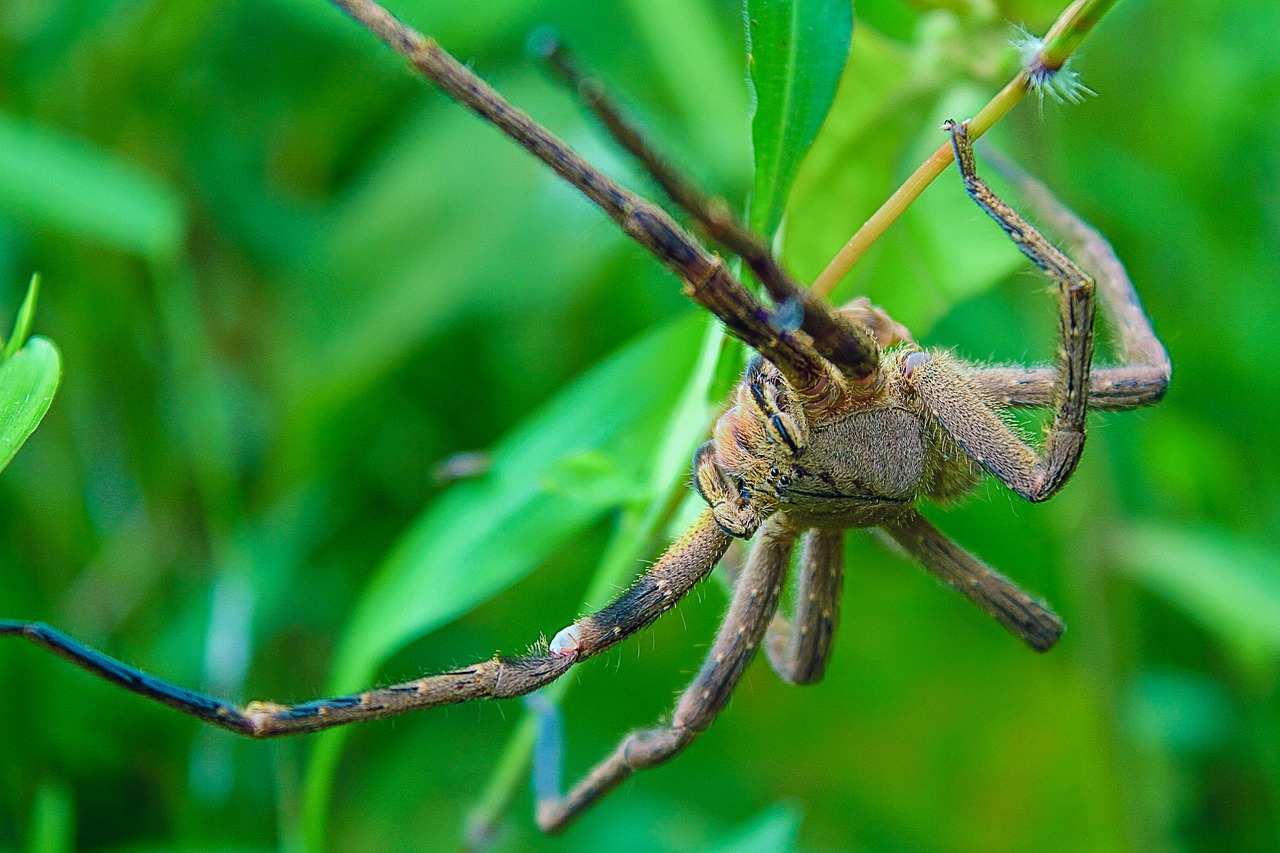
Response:
[{"label": "blurred light green leaf behind the yellowish-brown stem above the spider", "polygon": [[[919,79],[918,69],[937,61],[933,53],[913,54],[868,26],[859,29],[845,83],[791,196],[786,260],[801,279],[817,275],[832,247],[938,147],[942,118],[982,106],[984,92],[970,85]],[[978,158],[983,169],[980,150]],[[956,305],[1019,269],[1029,269],[1025,259],[952,173],[902,214],[838,293],[870,296],[923,339]]]}]

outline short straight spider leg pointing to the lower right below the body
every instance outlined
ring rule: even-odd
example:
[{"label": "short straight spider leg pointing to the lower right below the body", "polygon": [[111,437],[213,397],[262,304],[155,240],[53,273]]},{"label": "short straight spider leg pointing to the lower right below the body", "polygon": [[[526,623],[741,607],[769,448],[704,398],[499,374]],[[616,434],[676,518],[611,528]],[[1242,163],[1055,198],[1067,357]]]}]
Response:
[{"label": "short straight spider leg pointing to the lower right below the body", "polygon": [[938,580],[965,596],[1037,652],[1048,651],[1065,626],[1043,602],[956,544],[919,512],[882,528]]}]

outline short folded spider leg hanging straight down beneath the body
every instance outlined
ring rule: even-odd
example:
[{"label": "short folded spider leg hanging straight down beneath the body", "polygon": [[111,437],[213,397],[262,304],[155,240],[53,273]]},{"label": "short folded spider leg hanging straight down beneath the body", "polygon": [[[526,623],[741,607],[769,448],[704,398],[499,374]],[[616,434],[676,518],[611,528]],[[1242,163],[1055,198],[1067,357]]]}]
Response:
[{"label": "short folded spider leg hanging straight down beneath the body", "polygon": [[788,684],[815,684],[831,660],[845,584],[845,532],[809,530],[800,551],[800,576],[791,619],[773,617],[764,651]]}]

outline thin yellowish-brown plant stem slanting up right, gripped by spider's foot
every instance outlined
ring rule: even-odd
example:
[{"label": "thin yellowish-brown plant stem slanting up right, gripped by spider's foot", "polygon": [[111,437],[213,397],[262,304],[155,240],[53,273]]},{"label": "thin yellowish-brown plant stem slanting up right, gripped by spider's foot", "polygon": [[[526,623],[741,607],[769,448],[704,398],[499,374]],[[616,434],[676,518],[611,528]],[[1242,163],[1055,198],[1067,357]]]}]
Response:
[{"label": "thin yellowish-brown plant stem slanting up right, gripped by spider's foot", "polygon": [[[1036,74],[1056,73],[1071,58],[1075,49],[1080,46],[1084,37],[1089,35],[1098,20],[1116,4],[1116,0],[1075,0],[1068,6],[1048,35],[1044,44],[1014,79],[1000,90],[977,115],[969,122],[969,136],[977,140],[1005,117],[1019,101],[1027,97],[1033,88]],[[943,142],[938,150],[920,164],[906,181],[902,182],[892,196],[888,197],[879,210],[858,229],[849,242],[836,254],[827,268],[814,279],[810,289],[815,296],[827,297],[836,289],[840,280],[854,268],[854,265],[867,254],[867,250],[888,231],[899,216],[902,215],[911,202],[915,201],[933,179],[942,174],[954,155],[951,143]]]}]

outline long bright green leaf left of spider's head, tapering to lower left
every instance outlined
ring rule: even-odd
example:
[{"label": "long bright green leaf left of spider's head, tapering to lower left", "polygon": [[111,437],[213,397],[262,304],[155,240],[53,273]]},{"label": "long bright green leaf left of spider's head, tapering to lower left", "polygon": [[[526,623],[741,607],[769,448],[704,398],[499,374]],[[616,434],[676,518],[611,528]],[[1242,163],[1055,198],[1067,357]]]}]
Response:
[{"label": "long bright green leaf left of spider's head, tapering to lower left", "polygon": [[[449,488],[417,517],[356,607],[332,690],[365,686],[406,643],[509,588],[618,506],[618,488],[564,489],[564,473],[593,459],[600,470],[605,456],[614,461],[607,480],[641,480],[695,357],[698,320],[689,315],[650,332],[593,368],[498,442],[485,476]],[[325,735],[308,768],[302,812],[312,843],[323,838],[343,740],[342,733]]]}]

